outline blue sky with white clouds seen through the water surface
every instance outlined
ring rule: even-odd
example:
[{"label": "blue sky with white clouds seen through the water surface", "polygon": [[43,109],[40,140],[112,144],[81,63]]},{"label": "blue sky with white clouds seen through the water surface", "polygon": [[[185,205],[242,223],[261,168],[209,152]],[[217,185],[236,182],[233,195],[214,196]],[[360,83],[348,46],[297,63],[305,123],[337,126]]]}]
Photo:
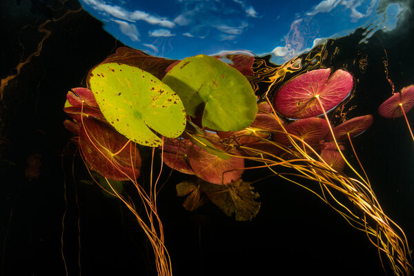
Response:
[{"label": "blue sky with white clouds seen through the water surface", "polygon": [[184,59],[247,50],[273,55],[275,63],[359,27],[367,28],[366,38],[393,30],[408,6],[386,0],[80,1],[113,37],[150,55]]}]

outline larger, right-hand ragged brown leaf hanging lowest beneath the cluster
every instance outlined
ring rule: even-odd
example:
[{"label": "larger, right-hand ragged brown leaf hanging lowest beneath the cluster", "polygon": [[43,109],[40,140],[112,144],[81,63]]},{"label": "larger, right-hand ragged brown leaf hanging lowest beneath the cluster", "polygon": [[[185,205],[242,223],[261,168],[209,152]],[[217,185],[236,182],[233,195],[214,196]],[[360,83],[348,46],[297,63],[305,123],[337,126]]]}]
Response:
[{"label": "larger, right-hand ragged brown leaf hanging lowest beneath the cluster", "polygon": [[251,220],[259,213],[260,202],[255,201],[259,193],[253,192],[250,182],[239,179],[228,185],[206,183],[201,189],[226,215],[235,214],[237,221]]}]

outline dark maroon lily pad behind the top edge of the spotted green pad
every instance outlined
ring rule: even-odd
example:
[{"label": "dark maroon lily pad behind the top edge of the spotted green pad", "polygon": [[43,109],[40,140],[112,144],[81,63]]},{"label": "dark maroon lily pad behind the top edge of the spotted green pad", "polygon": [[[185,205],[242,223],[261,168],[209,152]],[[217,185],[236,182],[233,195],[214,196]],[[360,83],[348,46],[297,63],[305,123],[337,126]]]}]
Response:
[{"label": "dark maroon lily pad behind the top edge of the spotted green pad", "polygon": [[[129,66],[134,66],[149,72],[158,79],[162,79],[166,75],[166,68],[170,66],[171,63],[175,62],[175,59],[164,59],[162,57],[153,57],[147,55],[141,50],[131,49],[127,47],[117,48],[115,54],[110,55],[102,63],[121,63]],[[102,64],[101,63],[101,64]],[[90,79],[90,72],[88,73],[88,79]]]}]

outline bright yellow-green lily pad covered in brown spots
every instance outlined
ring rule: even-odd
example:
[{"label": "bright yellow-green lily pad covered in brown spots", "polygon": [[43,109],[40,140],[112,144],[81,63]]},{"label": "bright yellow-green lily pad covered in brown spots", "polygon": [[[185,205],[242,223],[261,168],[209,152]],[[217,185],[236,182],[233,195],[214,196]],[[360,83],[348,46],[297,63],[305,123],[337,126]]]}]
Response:
[{"label": "bright yellow-green lily pad covered in brown spots", "polygon": [[[160,146],[161,135],[175,138],[186,126],[178,95],[150,73],[119,63],[103,63],[89,75],[105,118],[122,135],[144,146]],[[152,129],[152,130],[151,130]]]}]

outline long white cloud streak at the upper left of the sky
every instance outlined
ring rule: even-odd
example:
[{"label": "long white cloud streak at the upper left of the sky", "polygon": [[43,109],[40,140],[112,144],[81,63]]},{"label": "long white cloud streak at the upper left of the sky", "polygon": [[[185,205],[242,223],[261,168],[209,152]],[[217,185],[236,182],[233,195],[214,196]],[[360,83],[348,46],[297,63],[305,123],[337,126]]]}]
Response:
[{"label": "long white cloud streak at the upper left of the sky", "polygon": [[165,28],[173,28],[175,26],[174,22],[169,21],[166,18],[148,14],[147,12],[142,12],[141,10],[130,12],[120,6],[109,5],[101,0],[83,0],[83,2],[94,10],[97,10],[98,12],[104,12],[117,19],[124,19],[126,21],[142,20],[152,25],[159,25]]}]

